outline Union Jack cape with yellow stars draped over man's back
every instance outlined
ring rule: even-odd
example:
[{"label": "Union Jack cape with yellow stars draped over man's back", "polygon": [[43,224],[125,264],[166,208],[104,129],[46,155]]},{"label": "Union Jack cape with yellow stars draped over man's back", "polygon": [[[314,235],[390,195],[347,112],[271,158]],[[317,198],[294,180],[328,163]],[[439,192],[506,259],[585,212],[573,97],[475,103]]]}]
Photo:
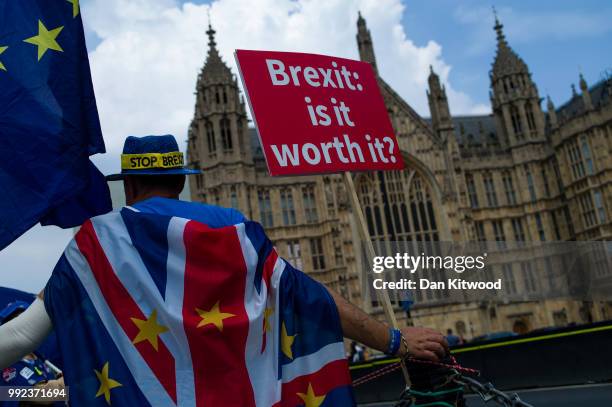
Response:
[{"label": "Union Jack cape with yellow stars draped over man's back", "polygon": [[74,406],[354,406],[336,305],[255,222],[127,208],[45,289]]}]

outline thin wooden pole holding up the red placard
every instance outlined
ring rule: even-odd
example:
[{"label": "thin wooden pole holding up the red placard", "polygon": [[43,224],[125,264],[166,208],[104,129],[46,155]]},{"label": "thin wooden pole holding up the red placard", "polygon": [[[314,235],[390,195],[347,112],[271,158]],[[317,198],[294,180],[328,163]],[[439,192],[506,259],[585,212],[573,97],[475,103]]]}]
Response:
[{"label": "thin wooden pole holding up the red placard", "polygon": [[[374,261],[374,257],[376,256],[376,252],[374,251],[374,244],[372,243],[370,231],[368,230],[368,225],[365,221],[365,217],[363,216],[363,211],[361,210],[361,204],[359,203],[359,198],[357,197],[357,191],[355,190],[355,183],[353,182],[353,177],[348,171],[344,172],[344,182],[351,197],[351,208],[353,209],[353,214],[357,218],[357,226],[361,233],[361,237],[365,242],[366,256],[368,262],[369,264],[372,264],[372,262]],[[378,296],[378,300],[382,303],[387,322],[389,323],[389,325],[391,325],[391,327],[398,328],[397,319],[395,318],[395,312],[393,312],[393,306],[391,305],[391,300],[389,299],[389,293],[387,292],[387,290],[376,290],[376,293]],[[402,372],[404,373],[404,379],[406,380],[406,385],[410,387],[412,382],[410,381],[410,375],[408,374],[406,362],[402,360],[401,363]]]}]

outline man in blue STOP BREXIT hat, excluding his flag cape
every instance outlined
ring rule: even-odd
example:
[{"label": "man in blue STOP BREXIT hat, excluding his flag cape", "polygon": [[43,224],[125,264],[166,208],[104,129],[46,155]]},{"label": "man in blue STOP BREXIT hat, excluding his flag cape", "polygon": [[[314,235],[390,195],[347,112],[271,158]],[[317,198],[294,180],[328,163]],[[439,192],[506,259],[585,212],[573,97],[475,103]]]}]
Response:
[{"label": "man in blue STOP BREXIT hat, excluding his flag cape", "polygon": [[[185,175],[198,170],[183,167],[183,155],[171,135],[128,137],[121,158],[122,171],[107,177],[123,180],[128,208],[132,210],[191,219],[210,228],[222,228],[246,221],[237,210],[180,201]],[[318,283],[317,283],[318,284]],[[447,352],[444,337],[431,329],[389,327],[329,291],[338,309],[344,336],[379,351],[416,358],[440,360]],[[35,349],[52,328],[44,294],[10,324],[0,328],[0,367],[10,365]]]}]

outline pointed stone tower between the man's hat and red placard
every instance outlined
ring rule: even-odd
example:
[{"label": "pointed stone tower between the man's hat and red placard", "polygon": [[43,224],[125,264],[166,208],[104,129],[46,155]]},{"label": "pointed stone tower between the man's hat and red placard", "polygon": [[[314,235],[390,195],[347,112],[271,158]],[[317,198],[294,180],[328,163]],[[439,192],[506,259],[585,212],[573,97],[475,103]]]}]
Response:
[{"label": "pointed stone tower between the man's hat and red placard", "polygon": [[197,79],[188,146],[191,164],[203,174],[191,177],[190,187],[198,200],[234,207],[249,216],[247,182],[253,178],[253,157],[244,101],[236,77],[219,55],[210,25],[206,34],[208,55]]}]

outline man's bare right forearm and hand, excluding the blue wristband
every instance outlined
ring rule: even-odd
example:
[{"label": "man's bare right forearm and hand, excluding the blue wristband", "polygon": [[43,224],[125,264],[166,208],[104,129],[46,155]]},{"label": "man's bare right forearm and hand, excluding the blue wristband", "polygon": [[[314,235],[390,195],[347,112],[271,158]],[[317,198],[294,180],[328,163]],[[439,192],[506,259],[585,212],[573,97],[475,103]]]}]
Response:
[{"label": "man's bare right forearm and hand, excluding the blue wristband", "polygon": [[[370,348],[385,352],[389,346],[389,327],[369,316],[341,295],[327,289],[338,308],[344,336],[361,342]],[[401,329],[408,349],[402,343],[400,356],[410,354],[415,358],[438,361],[444,358],[448,344],[444,336],[429,328],[404,327]]]}]

